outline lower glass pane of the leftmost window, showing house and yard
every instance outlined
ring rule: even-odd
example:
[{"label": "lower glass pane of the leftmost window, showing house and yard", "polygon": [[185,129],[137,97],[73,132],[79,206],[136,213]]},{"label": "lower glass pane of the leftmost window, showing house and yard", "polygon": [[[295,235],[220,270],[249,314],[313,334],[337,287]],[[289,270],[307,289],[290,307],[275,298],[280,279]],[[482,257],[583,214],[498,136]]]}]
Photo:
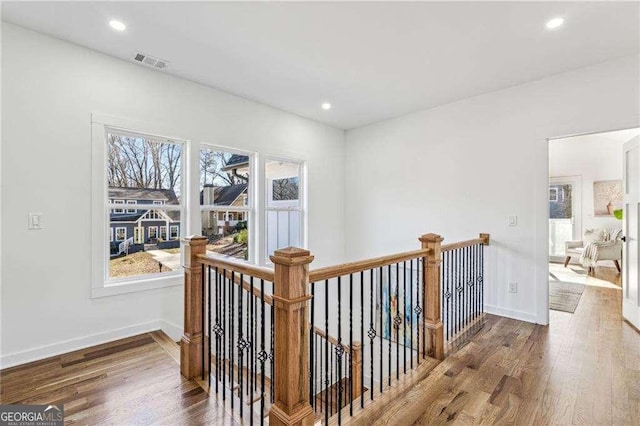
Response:
[{"label": "lower glass pane of the leftmost window, showing house and yard", "polygon": [[[139,210],[111,214],[109,278],[136,277],[180,270],[180,212]],[[170,229],[167,235],[167,229]]]}]

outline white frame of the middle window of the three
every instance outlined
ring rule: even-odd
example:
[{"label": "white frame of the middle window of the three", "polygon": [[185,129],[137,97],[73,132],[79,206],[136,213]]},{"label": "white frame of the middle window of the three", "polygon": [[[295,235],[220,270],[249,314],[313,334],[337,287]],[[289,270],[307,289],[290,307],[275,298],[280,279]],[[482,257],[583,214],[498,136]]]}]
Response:
[{"label": "white frame of the middle window of the three", "polygon": [[[229,148],[226,146],[222,146],[222,145],[215,145],[215,144],[210,144],[210,143],[201,143],[198,151],[197,151],[197,155],[195,156],[196,158],[193,159],[192,161],[192,167],[195,168],[195,171],[193,172],[194,174],[197,173],[197,180],[196,182],[200,182],[200,151],[204,150],[204,149],[209,149],[212,151],[219,151],[219,152],[225,152],[225,153],[229,153],[229,154],[236,154],[236,155],[245,155],[247,157],[249,157],[249,184],[247,185],[247,197],[248,200],[251,200],[247,203],[247,205],[243,205],[243,206],[216,206],[214,204],[205,204],[205,205],[201,205],[200,209],[198,211],[198,231],[196,231],[198,234],[200,234],[202,232],[202,223],[201,223],[201,219],[202,219],[202,212],[216,212],[217,218],[219,219],[219,215],[220,213],[222,213],[223,215],[223,220],[227,220],[228,219],[228,212],[244,212],[245,213],[245,217],[246,217],[246,221],[247,221],[247,228],[249,229],[249,241],[247,243],[247,248],[249,249],[249,258],[246,260],[247,263],[253,263],[256,264],[258,263],[259,259],[262,259],[262,254],[259,252],[260,250],[260,241],[261,241],[261,229],[257,226],[257,224],[259,223],[258,218],[256,217],[256,212],[258,211],[258,205],[256,203],[257,197],[256,194],[258,193],[257,191],[257,187],[261,184],[260,178],[259,178],[259,174],[258,174],[258,154],[255,152],[251,152],[251,151],[243,151],[243,150],[239,150],[237,148]],[[197,161],[197,162],[196,162]],[[192,175],[193,178],[193,175]],[[199,183],[198,183],[198,188],[197,189],[197,196],[196,194],[192,194],[192,197],[195,198],[197,200],[197,203],[200,203],[200,190],[199,190]]]}]

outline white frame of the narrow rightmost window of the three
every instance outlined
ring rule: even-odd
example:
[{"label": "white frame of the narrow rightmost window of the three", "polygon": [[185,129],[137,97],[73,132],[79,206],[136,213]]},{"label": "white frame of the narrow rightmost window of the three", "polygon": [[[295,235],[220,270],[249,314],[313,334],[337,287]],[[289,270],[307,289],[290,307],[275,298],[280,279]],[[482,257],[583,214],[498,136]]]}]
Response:
[{"label": "white frame of the narrow rightmost window of the three", "polygon": [[[297,164],[298,165],[298,207],[289,207],[289,206],[279,206],[278,204],[280,204],[280,202],[278,201],[273,201],[273,181],[277,180],[277,179],[283,179],[284,177],[276,177],[276,178],[267,178],[267,163],[272,162],[272,161],[279,161],[279,162],[284,162],[284,163],[292,163],[292,164]],[[294,177],[294,176],[291,176]],[[264,161],[262,163],[262,175],[261,175],[261,181],[264,184],[264,200],[261,203],[261,205],[263,206],[262,210],[263,210],[263,221],[262,223],[264,224],[264,232],[263,232],[263,251],[264,251],[264,257],[263,257],[263,264],[270,266],[272,265],[271,263],[271,259],[270,256],[272,253],[268,253],[268,238],[267,238],[267,232],[268,232],[268,223],[267,223],[267,212],[268,211],[286,211],[286,212],[292,212],[292,211],[297,211],[298,215],[300,217],[300,223],[299,223],[299,229],[298,229],[298,235],[300,235],[300,246],[301,248],[307,248],[307,162],[304,160],[300,160],[300,159],[295,159],[295,158],[287,158],[287,157],[279,157],[279,156],[273,156],[273,155],[266,155],[264,157]],[[271,205],[268,205],[269,203],[271,203]],[[281,204],[286,204],[285,202],[282,202]]]}]

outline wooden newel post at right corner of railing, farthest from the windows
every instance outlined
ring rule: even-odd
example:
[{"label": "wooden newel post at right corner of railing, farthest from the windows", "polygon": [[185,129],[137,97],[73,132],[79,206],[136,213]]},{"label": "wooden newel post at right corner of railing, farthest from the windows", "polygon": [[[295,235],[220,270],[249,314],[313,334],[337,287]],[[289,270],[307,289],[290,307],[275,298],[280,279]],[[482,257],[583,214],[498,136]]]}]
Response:
[{"label": "wooden newel post at right corner of railing, farthest from the windows", "polygon": [[420,237],[423,249],[429,249],[424,265],[424,294],[426,295],[424,321],[427,327],[426,344],[427,355],[432,358],[444,359],[444,333],[440,316],[440,264],[442,263],[441,243],[443,238],[436,234],[426,234]]}]

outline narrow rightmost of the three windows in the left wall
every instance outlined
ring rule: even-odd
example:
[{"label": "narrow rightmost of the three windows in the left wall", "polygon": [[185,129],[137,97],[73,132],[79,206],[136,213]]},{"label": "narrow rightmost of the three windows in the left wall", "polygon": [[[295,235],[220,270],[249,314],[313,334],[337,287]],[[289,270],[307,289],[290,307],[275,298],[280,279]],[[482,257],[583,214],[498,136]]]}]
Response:
[{"label": "narrow rightmost of the three windows in the left wall", "polygon": [[303,163],[268,158],[266,184],[266,259],[283,247],[304,247]]}]

